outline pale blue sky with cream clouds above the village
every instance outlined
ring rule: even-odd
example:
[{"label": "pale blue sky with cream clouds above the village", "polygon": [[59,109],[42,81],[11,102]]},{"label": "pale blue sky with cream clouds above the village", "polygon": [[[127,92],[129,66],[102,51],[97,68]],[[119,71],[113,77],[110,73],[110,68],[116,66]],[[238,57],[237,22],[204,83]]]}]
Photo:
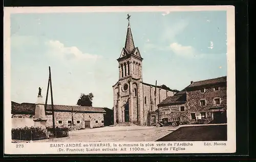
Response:
[{"label": "pale blue sky with cream clouds above the village", "polygon": [[[227,75],[226,11],[129,12],[143,82],[182,90]],[[125,44],[126,12],[11,14],[11,100],[45,98],[51,67],[54,104],[113,107],[112,86]],[[50,94],[48,103],[50,103]]]}]

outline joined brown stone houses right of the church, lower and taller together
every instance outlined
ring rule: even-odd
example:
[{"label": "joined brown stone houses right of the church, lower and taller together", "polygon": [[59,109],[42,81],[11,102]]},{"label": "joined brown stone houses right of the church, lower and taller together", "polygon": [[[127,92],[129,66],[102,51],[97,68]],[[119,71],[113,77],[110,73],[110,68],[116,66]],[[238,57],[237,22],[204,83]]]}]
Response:
[{"label": "joined brown stone houses right of the church, lower and taller together", "polygon": [[[183,91],[169,96],[151,112],[151,125],[163,118],[181,118],[182,124],[227,122],[227,77],[192,82]],[[159,112],[158,112],[159,111]]]}]

